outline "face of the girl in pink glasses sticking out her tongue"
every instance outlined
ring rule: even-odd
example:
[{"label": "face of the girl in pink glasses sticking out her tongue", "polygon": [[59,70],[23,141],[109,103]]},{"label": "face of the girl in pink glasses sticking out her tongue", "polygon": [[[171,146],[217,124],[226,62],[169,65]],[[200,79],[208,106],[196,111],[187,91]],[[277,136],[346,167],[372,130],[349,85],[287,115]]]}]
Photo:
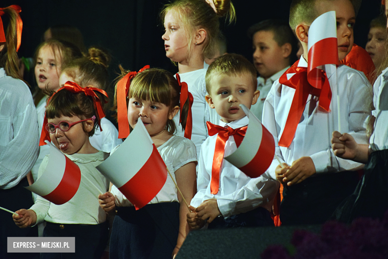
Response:
[{"label": "face of the girl in pink glasses sticking out her tongue", "polygon": [[[87,118],[88,119],[88,118]],[[61,116],[56,117],[54,119],[48,119],[48,123],[53,123],[54,125],[58,125],[60,122],[65,121],[68,123],[75,123],[81,121],[78,116],[67,117]],[[55,129],[54,133],[50,133],[50,138],[53,141],[54,145],[59,148],[65,154],[88,154],[91,153],[90,147],[91,144],[89,142],[89,135],[83,129],[82,125],[85,124],[85,128],[87,130],[93,129],[93,121],[86,121],[82,123],[78,123],[72,126],[68,131],[62,131],[61,129]],[[92,152],[93,153],[93,152]]]}]

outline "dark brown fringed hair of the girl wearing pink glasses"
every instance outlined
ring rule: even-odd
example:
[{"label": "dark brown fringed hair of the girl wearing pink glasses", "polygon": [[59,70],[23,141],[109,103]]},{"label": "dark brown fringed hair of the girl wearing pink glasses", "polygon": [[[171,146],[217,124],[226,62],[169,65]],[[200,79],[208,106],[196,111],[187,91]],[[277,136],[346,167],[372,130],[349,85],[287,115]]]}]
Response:
[{"label": "dark brown fringed hair of the girl wearing pink glasses", "polygon": [[[104,97],[97,91],[100,103],[103,107]],[[92,118],[96,116],[96,121],[92,131],[88,132],[89,136],[93,136],[95,129],[100,121],[98,114],[95,110],[93,98],[85,95],[85,93],[73,93],[67,89],[62,89],[56,92],[50,99],[46,107],[47,119],[59,118],[61,116],[73,117],[77,116],[81,120]],[[82,123],[82,127],[85,132],[85,124]]]}]

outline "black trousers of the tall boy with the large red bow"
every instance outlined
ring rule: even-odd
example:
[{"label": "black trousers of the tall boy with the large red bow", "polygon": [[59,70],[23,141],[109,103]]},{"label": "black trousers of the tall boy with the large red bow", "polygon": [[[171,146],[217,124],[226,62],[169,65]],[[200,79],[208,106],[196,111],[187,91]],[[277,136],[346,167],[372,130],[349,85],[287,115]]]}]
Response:
[{"label": "black trousers of the tall boy with the large red bow", "polygon": [[280,204],[282,226],[322,224],[356,188],[358,173],[315,174],[301,183],[284,185]]}]

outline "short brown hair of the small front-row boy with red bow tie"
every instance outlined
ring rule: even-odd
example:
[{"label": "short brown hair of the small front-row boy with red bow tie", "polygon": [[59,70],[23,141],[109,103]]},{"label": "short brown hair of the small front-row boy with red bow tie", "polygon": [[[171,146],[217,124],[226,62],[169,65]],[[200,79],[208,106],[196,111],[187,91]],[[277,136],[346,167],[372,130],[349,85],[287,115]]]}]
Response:
[{"label": "short brown hair of the small front-row boy with red bow tie", "polygon": [[206,91],[210,93],[211,85],[210,80],[214,75],[226,74],[226,75],[242,75],[249,74],[252,76],[252,83],[254,91],[257,88],[256,68],[248,59],[238,54],[225,54],[218,57],[213,63],[210,64],[206,71],[205,82]]}]

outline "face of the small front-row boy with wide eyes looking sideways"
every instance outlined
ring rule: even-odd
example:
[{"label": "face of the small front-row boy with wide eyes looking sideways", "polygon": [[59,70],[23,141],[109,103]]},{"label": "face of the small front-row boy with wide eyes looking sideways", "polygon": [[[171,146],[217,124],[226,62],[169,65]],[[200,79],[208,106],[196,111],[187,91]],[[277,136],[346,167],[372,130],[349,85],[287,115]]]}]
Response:
[{"label": "face of the small front-row boy with wide eyes looking sideways", "polygon": [[217,74],[210,80],[210,93],[205,99],[223,122],[230,123],[245,116],[240,104],[250,109],[257,102],[260,91],[255,89],[252,75],[248,73],[230,76]]}]

